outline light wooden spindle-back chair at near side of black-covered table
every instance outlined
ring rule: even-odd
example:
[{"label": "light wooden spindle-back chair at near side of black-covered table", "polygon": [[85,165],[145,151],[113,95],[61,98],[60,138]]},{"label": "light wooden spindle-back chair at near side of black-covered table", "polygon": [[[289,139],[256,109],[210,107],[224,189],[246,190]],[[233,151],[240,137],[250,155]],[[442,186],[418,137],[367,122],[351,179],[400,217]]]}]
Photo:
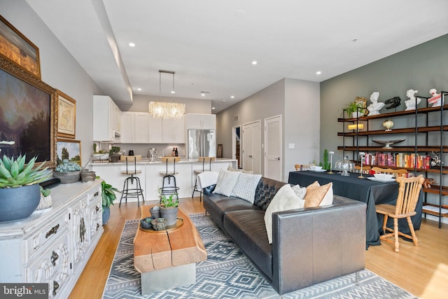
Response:
[{"label": "light wooden spindle-back chair at near side of black-covered table", "polygon": [[[423,184],[423,175],[414,176],[411,178],[398,177],[396,179],[397,183],[400,184],[398,187],[398,197],[395,205],[393,204],[375,204],[375,209],[378,214],[384,215],[383,220],[383,232],[384,235],[379,236],[386,242],[393,243],[395,246],[394,251],[400,251],[400,244],[398,243],[398,236],[407,237],[412,239],[414,246],[419,246],[419,240],[415,235],[414,225],[412,225],[411,216],[416,214],[415,207],[417,200],[419,200],[421,185]],[[388,217],[393,218],[393,229],[386,227]],[[409,225],[409,230],[411,231],[411,236],[400,232],[398,230],[398,219],[406,218],[407,225]],[[386,231],[388,233],[386,233]],[[388,237],[395,237],[394,241],[388,239]]]}]

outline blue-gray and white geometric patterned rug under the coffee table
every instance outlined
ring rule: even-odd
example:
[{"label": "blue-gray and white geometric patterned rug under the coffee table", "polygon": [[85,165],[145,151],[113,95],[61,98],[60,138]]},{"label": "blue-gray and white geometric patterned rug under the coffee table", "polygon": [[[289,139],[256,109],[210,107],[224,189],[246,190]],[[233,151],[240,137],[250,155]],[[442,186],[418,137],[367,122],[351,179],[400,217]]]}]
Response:
[{"label": "blue-gray and white geometric patterned rug under the coffee table", "polygon": [[[196,265],[196,283],[142,296],[132,239],[139,220],[128,220],[113,258],[103,298],[280,298],[238,246],[204,214],[190,214],[207,260]],[[369,270],[287,293],[281,298],[416,298]]]}]

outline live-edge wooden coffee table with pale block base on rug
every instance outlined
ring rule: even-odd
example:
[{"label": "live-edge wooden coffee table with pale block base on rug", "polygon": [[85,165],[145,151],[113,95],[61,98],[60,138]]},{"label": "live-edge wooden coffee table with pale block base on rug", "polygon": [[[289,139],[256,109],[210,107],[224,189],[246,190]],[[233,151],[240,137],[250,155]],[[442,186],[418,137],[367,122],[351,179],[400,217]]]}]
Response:
[{"label": "live-edge wooden coffee table with pale block base on rug", "polygon": [[[151,207],[140,207],[141,218],[151,216]],[[181,209],[178,218],[183,221],[179,228],[160,231],[137,229],[134,267],[141,273],[142,295],[194,284],[195,263],[207,260],[207,251],[195,225]]]}]

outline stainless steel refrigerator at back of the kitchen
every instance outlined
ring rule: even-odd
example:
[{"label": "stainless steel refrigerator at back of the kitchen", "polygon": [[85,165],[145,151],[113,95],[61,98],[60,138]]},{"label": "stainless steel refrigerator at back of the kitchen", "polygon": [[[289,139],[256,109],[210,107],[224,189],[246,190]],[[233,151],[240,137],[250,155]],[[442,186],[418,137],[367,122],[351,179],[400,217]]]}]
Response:
[{"label": "stainless steel refrigerator at back of the kitchen", "polygon": [[187,139],[187,158],[216,157],[215,130],[189,129]]}]

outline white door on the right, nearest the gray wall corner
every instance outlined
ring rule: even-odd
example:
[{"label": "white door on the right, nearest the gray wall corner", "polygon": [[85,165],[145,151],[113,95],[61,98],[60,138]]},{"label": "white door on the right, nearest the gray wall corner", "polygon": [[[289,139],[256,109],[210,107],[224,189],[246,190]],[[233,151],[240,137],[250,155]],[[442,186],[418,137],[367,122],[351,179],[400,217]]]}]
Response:
[{"label": "white door on the right, nearest the gray wall corner", "polygon": [[265,177],[282,181],[281,116],[265,118]]}]

